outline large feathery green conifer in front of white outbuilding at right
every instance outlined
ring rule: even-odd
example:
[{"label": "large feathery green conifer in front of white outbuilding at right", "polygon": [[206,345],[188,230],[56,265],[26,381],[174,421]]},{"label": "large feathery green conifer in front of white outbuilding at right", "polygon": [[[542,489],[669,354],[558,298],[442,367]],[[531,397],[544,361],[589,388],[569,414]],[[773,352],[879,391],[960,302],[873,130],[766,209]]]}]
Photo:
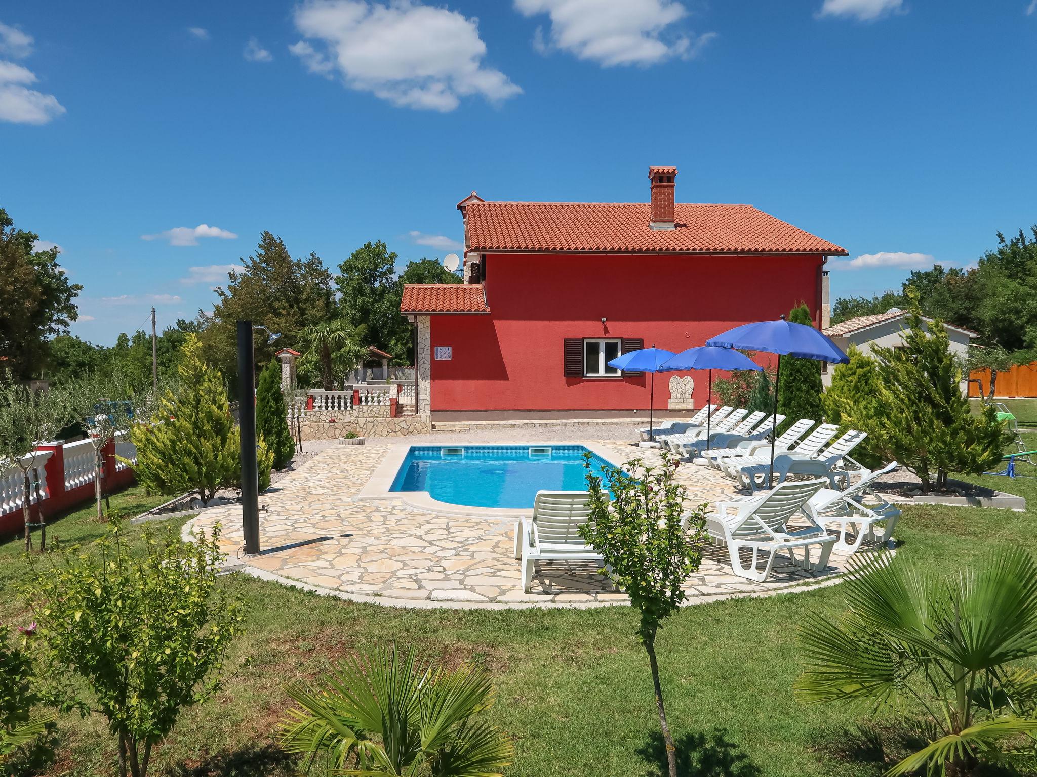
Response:
[{"label": "large feathery green conifer in front of white outbuilding at right", "polygon": [[944,490],[951,472],[979,474],[994,466],[1011,438],[993,405],[972,413],[943,322],[933,321],[926,332],[918,297],[912,290],[908,295],[903,347],[873,348],[879,390],[866,431],[876,450],[918,476],[923,491]]}]

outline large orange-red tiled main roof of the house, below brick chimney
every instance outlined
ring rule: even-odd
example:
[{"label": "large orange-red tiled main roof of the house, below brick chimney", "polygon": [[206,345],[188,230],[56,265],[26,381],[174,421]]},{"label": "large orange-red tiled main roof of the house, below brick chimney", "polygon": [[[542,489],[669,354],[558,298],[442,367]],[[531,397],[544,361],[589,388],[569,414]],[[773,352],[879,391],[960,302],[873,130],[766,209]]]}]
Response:
[{"label": "large orange-red tiled main roof of the house, below brick chimney", "polygon": [[469,250],[564,253],[825,254],[846,251],[752,205],[677,204],[652,229],[648,203],[469,202]]}]

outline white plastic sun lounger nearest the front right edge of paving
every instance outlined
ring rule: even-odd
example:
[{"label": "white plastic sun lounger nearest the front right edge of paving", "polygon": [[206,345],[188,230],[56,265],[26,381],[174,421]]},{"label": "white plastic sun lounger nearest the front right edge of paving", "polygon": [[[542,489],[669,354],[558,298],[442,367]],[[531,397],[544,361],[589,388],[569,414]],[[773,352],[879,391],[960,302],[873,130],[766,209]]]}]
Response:
[{"label": "white plastic sun lounger nearest the front right edge of paving", "polygon": [[[783,483],[765,493],[722,501],[716,513],[706,516],[706,531],[714,542],[727,546],[731,570],[739,577],[763,582],[770,576],[780,551],[788,554],[796,567],[820,571],[828,566],[836,538],[815,523],[804,508],[823,485],[823,480]],[[801,512],[811,525],[789,529],[789,519]],[[811,548],[817,549],[813,562]],[[748,565],[741,562],[739,551],[744,549],[752,552]],[[798,557],[801,551],[803,555]]]}]

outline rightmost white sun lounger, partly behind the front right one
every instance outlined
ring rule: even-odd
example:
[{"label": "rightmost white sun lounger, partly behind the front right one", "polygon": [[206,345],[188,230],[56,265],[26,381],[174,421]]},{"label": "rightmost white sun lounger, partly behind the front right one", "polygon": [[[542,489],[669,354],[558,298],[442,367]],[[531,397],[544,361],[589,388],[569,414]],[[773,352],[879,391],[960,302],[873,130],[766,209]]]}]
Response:
[{"label": "rightmost white sun lounger, partly behind the front right one", "polygon": [[[836,524],[836,549],[852,553],[864,543],[889,543],[900,519],[900,510],[877,496],[874,485],[879,478],[896,468],[894,461],[881,469],[867,472],[844,491],[822,488],[810,497],[807,509],[812,511],[811,517],[825,528]],[[875,525],[879,523],[886,524],[881,538],[875,534]],[[848,539],[850,535],[854,538],[852,542]]]}]

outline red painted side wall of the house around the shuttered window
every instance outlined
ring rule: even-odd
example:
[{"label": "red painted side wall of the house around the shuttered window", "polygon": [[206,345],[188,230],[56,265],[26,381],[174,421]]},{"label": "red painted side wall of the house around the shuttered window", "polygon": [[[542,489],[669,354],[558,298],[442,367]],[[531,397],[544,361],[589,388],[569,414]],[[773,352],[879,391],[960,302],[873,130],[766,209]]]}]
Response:
[{"label": "red painted side wall of the house around the shuttered window", "polygon": [[[433,349],[452,348],[450,361],[431,362],[431,409],[646,410],[650,376],[566,378],[563,340],[642,338],[681,351],[801,301],[816,317],[821,263],[820,256],[491,255],[491,313],[430,317]],[[692,376],[701,406],[706,375]],[[655,376],[658,408],[669,378]]]}]

